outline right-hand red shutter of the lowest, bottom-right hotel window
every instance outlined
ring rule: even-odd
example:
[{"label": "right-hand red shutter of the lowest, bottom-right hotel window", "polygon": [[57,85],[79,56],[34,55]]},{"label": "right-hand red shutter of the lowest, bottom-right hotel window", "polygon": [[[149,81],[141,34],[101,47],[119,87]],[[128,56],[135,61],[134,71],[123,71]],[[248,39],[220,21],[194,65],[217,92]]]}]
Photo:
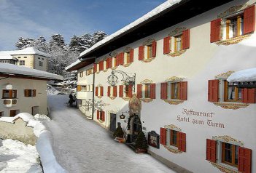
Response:
[{"label": "right-hand red shutter of the lowest, bottom-right hotel window", "polygon": [[251,173],[252,150],[238,147],[238,172]]}]

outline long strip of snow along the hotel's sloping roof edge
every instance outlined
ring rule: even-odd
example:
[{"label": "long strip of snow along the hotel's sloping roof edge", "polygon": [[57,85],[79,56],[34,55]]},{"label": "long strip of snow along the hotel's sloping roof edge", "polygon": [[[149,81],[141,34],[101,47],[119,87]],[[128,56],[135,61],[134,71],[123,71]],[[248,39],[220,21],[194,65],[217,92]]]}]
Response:
[{"label": "long strip of snow along the hotel's sloping roof edge", "polygon": [[169,7],[173,6],[174,4],[178,4],[182,0],[168,0],[164,2],[163,4],[160,4],[155,9],[152,9],[152,11],[148,12],[146,15],[140,17],[139,19],[135,20],[133,23],[130,23],[129,25],[126,25],[124,28],[120,29],[119,31],[112,33],[110,36],[107,36],[105,39],[98,41],[98,43],[94,44],[93,47],[90,47],[89,49],[86,49],[84,52],[82,52],[79,57],[82,57],[84,55],[87,55],[88,53],[92,52],[97,47],[101,47],[102,45],[106,44],[106,42],[111,41],[112,39],[115,39],[115,37],[120,36],[121,34],[125,33],[126,31],[129,31],[133,28],[135,28],[137,25],[143,23],[144,21],[150,19],[151,17],[154,17],[155,15],[158,15],[160,12],[163,12],[163,10],[168,9]]}]

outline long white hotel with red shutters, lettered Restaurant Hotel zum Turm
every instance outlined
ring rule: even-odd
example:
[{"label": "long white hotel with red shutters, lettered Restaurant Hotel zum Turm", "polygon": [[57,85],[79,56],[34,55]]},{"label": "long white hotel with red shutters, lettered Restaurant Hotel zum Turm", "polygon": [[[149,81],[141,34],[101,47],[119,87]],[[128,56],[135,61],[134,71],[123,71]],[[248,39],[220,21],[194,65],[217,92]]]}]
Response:
[{"label": "long white hotel with red shutters, lettered Restaurant Hotel zum Turm", "polygon": [[166,1],[99,41],[66,68],[79,109],[173,168],[255,173],[255,88],[226,80],[255,68],[255,2]]}]

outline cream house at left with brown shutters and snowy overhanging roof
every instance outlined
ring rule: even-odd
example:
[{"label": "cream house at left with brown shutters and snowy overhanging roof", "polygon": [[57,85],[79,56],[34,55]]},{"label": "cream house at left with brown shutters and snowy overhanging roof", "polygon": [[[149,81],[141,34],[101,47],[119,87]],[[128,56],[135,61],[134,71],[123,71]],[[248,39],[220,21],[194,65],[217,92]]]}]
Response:
[{"label": "cream house at left with brown shutters and snowy overhanging roof", "polygon": [[18,65],[0,63],[0,116],[26,112],[47,115],[47,81],[62,76]]}]

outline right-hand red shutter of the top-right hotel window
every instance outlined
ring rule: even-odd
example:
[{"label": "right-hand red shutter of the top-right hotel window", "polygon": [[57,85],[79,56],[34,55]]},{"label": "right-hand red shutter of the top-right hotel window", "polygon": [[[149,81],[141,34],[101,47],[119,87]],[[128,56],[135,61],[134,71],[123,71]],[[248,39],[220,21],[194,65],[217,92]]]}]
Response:
[{"label": "right-hand red shutter of the top-right hotel window", "polygon": [[244,34],[255,31],[255,5],[244,9]]}]

